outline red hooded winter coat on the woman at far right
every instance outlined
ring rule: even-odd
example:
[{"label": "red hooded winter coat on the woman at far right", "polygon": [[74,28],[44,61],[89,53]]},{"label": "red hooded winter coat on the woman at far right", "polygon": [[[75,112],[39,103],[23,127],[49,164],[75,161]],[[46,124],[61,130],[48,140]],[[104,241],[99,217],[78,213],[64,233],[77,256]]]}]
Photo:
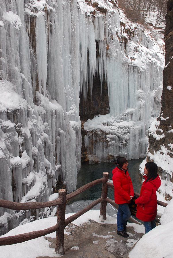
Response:
[{"label": "red hooded winter coat on the woman at far right", "polygon": [[157,175],[155,179],[150,179],[146,183],[147,176],[144,177],[145,181],[142,184],[140,196],[135,200],[135,203],[138,204],[136,217],[139,220],[152,221],[157,214],[156,191],[161,185],[161,181]]}]

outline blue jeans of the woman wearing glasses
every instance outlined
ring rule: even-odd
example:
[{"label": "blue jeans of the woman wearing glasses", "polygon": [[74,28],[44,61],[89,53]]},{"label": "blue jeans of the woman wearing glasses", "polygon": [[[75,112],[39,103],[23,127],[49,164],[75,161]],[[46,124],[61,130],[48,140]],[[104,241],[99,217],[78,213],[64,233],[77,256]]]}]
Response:
[{"label": "blue jeans of the woman wearing glasses", "polygon": [[131,213],[128,207],[128,203],[118,204],[117,213],[117,229],[118,231],[124,230],[124,225],[127,225],[127,221],[130,218]]}]

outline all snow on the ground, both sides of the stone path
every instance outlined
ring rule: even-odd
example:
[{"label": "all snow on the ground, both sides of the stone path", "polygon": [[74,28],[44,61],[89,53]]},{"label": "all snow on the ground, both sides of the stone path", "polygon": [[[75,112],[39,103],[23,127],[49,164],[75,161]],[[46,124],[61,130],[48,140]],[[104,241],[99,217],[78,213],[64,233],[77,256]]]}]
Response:
[{"label": "all snow on the ground, both sides of the stone path", "polygon": [[[72,216],[74,213],[66,214],[66,218]],[[91,210],[83,214],[80,218],[72,222],[74,225],[80,226],[89,220],[94,220],[98,223],[116,224],[115,217],[107,215],[107,219],[104,222],[99,220],[99,210]],[[5,236],[12,236],[16,234],[23,234],[35,230],[43,230],[56,224],[56,217],[49,217],[45,219],[36,220],[11,230]],[[136,244],[134,249],[130,252],[129,258],[162,258],[162,257],[173,257],[172,242],[173,242],[173,200],[168,203],[165,208],[164,214],[162,215],[161,225],[145,234]],[[132,224],[130,224],[132,225]],[[143,225],[134,225],[136,232],[144,233]],[[65,234],[68,234],[65,228]],[[56,233],[48,234],[47,237],[55,238]],[[75,247],[75,250],[78,250]],[[32,252],[31,252],[32,250]],[[36,258],[38,256],[55,256],[53,248],[49,247],[49,241],[44,236],[29,240],[20,244],[1,246],[0,247],[1,258]],[[58,257],[58,256],[57,256]]]}]

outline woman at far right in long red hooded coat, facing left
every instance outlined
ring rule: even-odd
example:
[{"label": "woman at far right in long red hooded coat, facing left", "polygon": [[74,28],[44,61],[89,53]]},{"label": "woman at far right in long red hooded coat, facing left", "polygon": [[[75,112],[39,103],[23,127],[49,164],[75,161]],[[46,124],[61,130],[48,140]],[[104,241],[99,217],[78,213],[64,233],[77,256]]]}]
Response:
[{"label": "woman at far right in long red hooded coat, facing left", "polygon": [[155,217],[157,214],[157,195],[156,191],[161,185],[158,167],[154,162],[147,162],[144,168],[145,181],[141,187],[139,198],[135,200],[137,205],[136,217],[143,220],[145,234],[156,227]]}]

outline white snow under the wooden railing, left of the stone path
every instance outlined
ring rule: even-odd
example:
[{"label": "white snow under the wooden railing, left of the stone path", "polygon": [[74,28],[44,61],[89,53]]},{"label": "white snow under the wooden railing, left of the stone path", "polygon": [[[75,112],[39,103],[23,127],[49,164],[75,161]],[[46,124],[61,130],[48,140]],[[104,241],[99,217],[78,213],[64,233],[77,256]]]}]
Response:
[{"label": "white snow under the wooden railing, left of the stone path", "polygon": [[[72,216],[73,214],[74,213],[66,214],[66,218]],[[84,224],[88,220],[94,220],[98,223],[101,223],[101,221],[99,221],[99,214],[100,214],[99,210],[91,210],[83,214],[80,218],[74,220],[72,223],[77,226]],[[49,217],[45,219],[36,220],[34,222],[30,222],[30,223],[18,226],[17,228],[14,228],[13,230],[9,231],[7,234],[1,237],[12,236],[16,234],[23,234],[23,233],[27,233],[35,230],[43,230],[48,227],[54,226],[56,223],[57,223],[57,217]],[[107,220],[105,220],[105,223],[115,224],[116,219],[114,217],[107,215]],[[68,232],[66,232],[66,228],[64,233],[68,234]],[[56,238],[56,232],[53,232],[46,236]],[[13,258],[23,258],[23,257],[36,258],[38,256],[50,256],[50,257],[55,256],[54,249],[49,248],[49,241],[46,240],[44,236],[33,240],[29,240],[27,242],[20,243],[20,244],[1,246],[0,253],[1,253],[1,258],[9,258],[9,257],[10,258],[12,257]]]}]

